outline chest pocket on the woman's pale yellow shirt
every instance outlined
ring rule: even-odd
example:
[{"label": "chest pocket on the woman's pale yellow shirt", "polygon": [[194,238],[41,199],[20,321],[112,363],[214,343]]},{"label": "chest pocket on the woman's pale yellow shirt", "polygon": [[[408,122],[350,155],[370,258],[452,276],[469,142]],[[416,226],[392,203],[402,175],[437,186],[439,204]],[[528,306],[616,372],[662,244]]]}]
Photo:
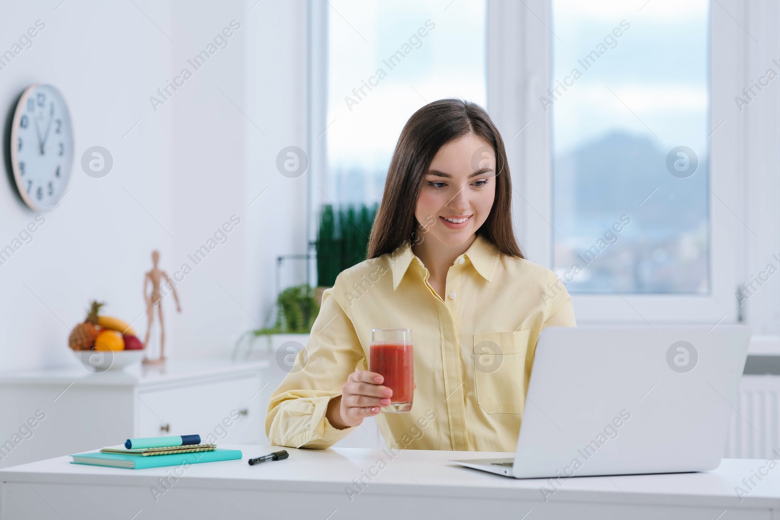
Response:
[{"label": "chest pocket on the woman's pale yellow shirt", "polygon": [[529,332],[474,334],[474,385],[485,412],[523,413]]}]

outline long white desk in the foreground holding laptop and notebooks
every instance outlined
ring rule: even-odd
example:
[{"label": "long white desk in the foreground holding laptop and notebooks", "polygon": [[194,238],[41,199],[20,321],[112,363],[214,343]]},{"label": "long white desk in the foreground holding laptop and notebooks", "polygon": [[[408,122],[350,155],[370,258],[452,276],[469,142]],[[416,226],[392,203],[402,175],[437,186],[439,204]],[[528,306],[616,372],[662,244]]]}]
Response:
[{"label": "long white desk in the foreground holding laptop and notebooks", "polygon": [[[0,469],[0,518],[753,520],[776,519],[780,511],[780,468],[743,501],[736,497],[734,486],[742,486],[743,478],[764,465],[759,460],[724,459],[707,473],[573,478],[544,502],[539,489],[544,480],[447,464],[451,458],[507,455],[502,453],[408,450],[392,459],[381,450],[285,448],[288,459],[250,466],[248,458],[279,448],[222,447],[242,450],[243,460],[191,465],[178,480],[171,479],[156,502],[151,486],[174,474],[175,466],[114,469],[70,464],[69,457],[60,457]],[[371,470],[380,458],[387,466]],[[367,486],[350,501],[347,486],[358,490],[353,479],[361,477]]]}]

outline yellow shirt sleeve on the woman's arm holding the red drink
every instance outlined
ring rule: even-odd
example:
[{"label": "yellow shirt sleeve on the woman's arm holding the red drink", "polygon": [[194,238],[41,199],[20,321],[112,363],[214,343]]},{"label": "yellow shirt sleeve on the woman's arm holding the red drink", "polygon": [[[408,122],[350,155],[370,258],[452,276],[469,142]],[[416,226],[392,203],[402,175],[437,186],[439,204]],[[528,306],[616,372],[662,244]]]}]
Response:
[{"label": "yellow shirt sleeve on the woman's arm holding the red drink", "polygon": [[322,294],[317,319],[306,348],[282,384],[271,395],[265,433],[271,444],[326,448],[349,435],[356,426],[339,430],[325,417],[328,403],[342,393],[342,385],[360,360],[363,348],[352,320],[344,311],[344,273]]}]

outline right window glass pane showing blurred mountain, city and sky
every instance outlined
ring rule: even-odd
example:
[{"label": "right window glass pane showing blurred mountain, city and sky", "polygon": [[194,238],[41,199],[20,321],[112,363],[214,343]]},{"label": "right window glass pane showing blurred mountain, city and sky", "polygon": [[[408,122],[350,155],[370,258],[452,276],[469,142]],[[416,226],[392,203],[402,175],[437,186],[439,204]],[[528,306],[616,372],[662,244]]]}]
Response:
[{"label": "right window glass pane showing blurred mountain, city and sky", "polygon": [[711,292],[707,0],[552,0],[552,247],[571,293]]}]

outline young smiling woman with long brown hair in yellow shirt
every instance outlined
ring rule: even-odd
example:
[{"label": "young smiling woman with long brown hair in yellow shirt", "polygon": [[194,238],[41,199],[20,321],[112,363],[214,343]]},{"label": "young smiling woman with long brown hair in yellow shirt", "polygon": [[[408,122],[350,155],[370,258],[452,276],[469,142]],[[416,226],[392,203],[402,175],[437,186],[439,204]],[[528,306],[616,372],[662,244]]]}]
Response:
[{"label": "young smiling woman with long brown hair in yellow shirt", "polygon": [[[271,444],[330,447],[376,416],[388,447],[515,451],[544,327],[571,298],[512,232],[502,137],[477,104],[434,101],[406,123],[368,246],[322,296],[307,347],[271,396]],[[412,329],[413,407],[368,368],[372,328]]]}]

